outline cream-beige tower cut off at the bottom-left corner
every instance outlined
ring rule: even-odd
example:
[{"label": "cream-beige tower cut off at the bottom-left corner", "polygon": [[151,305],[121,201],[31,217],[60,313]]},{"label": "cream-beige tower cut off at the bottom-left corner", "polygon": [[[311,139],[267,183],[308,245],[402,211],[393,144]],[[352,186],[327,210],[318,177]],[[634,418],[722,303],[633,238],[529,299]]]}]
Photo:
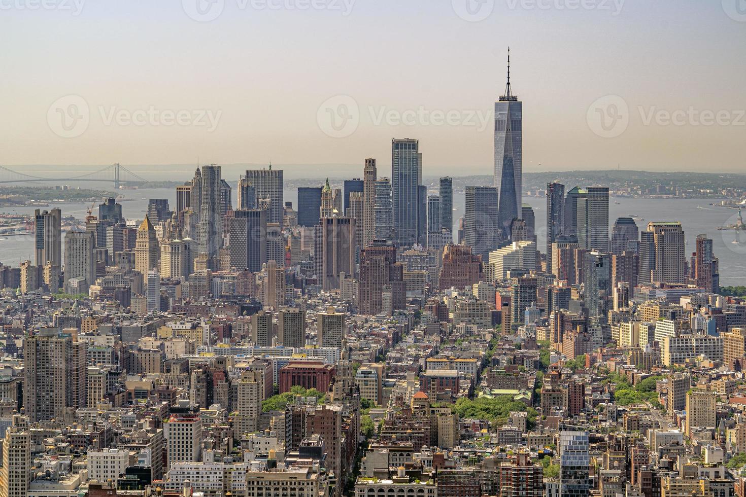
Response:
[{"label": "cream-beige tower cut off at the bottom-left corner", "polygon": [[28,418],[13,414],[2,440],[0,497],[26,497],[31,481],[31,431]]}]

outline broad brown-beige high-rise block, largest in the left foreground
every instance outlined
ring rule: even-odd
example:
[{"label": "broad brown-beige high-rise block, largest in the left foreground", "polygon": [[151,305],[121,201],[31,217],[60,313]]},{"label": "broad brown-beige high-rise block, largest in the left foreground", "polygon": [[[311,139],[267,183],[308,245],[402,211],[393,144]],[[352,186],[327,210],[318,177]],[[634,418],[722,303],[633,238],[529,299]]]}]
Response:
[{"label": "broad brown-beige high-rise block, largest in the left foreground", "polygon": [[24,345],[24,407],[30,422],[61,420],[86,406],[86,343],[43,329]]}]

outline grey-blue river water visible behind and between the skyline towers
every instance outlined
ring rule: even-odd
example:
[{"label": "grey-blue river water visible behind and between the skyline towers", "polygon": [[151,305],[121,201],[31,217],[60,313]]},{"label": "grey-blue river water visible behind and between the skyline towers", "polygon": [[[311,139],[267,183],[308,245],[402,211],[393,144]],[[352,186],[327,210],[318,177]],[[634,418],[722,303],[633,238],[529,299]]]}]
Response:
[{"label": "grey-blue river water visible behind and between the skyline towers", "polygon": [[[99,185],[81,186],[101,189]],[[148,199],[166,198],[173,208],[176,203],[175,189],[137,189],[120,190],[125,198],[122,200],[122,212],[125,218],[141,220],[148,209]],[[236,205],[236,189],[233,189],[233,205]],[[295,189],[285,191],[285,200],[292,201],[297,208]],[[524,202],[533,207],[536,217],[536,236],[539,250],[546,250],[546,198],[524,197]],[[738,211],[724,207],[710,206],[718,200],[677,199],[677,198],[612,198],[609,204],[609,224],[621,216],[636,215],[640,230],[644,230],[649,221],[680,221],[686,235],[686,253],[689,256],[695,250],[695,238],[706,233],[712,238],[715,256],[720,261],[720,280],[722,285],[746,285],[746,232],[735,230],[718,230],[718,226],[735,224]],[[83,219],[90,204],[63,203],[55,204],[62,209],[63,215],[73,215]],[[50,207],[46,209],[50,209]],[[42,208],[45,209],[45,208]],[[0,212],[32,214],[34,207],[0,207]],[[98,204],[94,214],[98,213]],[[454,195],[454,224],[464,213],[463,194]],[[746,215],[746,212],[745,212]],[[739,243],[733,243],[738,241]],[[31,235],[7,236],[0,238],[0,262],[18,266],[25,260],[34,260],[34,238]]]}]

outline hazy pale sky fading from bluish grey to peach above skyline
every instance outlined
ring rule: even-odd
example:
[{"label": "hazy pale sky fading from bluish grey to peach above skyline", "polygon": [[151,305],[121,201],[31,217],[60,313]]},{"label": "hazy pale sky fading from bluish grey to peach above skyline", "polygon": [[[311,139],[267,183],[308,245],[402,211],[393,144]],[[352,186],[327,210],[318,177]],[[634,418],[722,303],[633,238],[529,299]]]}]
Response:
[{"label": "hazy pale sky fading from bluish grey to peach above skyline", "polygon": [[[746,172],[746,0],[0,0],[0,165]],[[359,176],[360,171],[355,170]]]}]

